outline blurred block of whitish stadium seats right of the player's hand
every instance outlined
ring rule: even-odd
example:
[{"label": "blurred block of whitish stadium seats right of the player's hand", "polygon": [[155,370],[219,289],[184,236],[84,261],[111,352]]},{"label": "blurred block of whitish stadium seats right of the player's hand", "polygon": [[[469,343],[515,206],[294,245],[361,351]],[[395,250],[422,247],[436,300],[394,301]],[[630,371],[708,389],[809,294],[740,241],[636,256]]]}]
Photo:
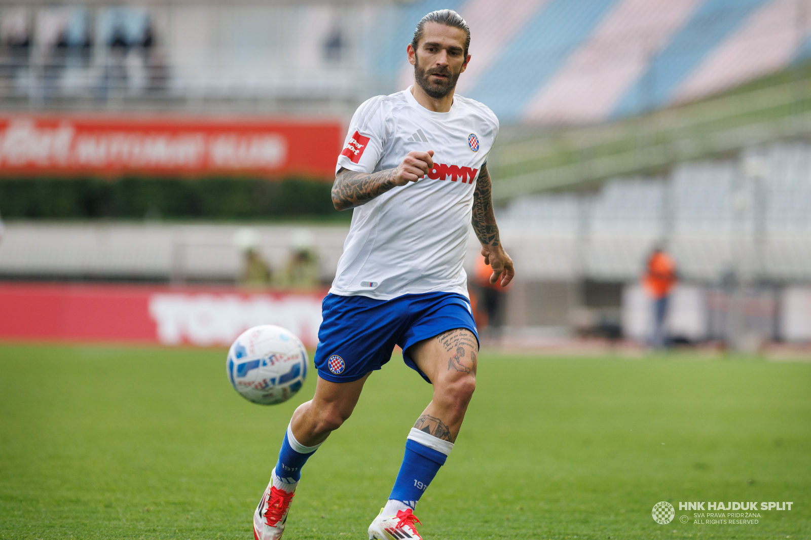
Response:
[{"label": "blurred block of whitish stadium seats right of the player's hand", "polygon": [[744,158],[698,161],[667,178],[615,178],[596,192],[516,199],[498,215],[504,242],[521,238],[517,260],[539,279],[580,272],[633,281],[654,242],[667,242],[693,282],[719,282],[733,266],[766,281],[811,280],[811,242],[798,243],[811,238],[811,146],[773,144],[764,154],[763,178],[741,174]]}]

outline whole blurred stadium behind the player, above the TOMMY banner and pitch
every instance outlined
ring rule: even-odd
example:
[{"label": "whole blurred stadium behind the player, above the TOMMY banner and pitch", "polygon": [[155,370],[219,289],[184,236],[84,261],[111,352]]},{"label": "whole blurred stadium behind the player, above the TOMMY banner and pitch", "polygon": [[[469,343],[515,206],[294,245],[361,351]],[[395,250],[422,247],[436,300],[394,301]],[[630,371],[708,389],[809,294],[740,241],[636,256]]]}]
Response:
[{"label": "whole blurred stadium behind the player, above the TOMMY banner and pitch", "polygon": [[346,123],[446,7],[501,122],[494,339],[645,342],[661,246],[672,343],[811,341],[811,0],[3,0],[0,278],[323,294]]}]

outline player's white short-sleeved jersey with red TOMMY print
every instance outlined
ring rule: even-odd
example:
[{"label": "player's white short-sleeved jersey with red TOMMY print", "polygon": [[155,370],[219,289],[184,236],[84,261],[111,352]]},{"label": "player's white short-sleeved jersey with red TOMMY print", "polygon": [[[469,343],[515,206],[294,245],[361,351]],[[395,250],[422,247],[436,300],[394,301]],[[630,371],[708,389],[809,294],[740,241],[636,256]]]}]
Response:
[{"label": "player's white short-sleeved jersey with red TOMMY print", "polygon": [[408,152],[427,150],[434,151],[434,169],[354,208],[329,292],[380,300],[432,292],[467,297],[462,264],[474,183],[498,131],[490,109],[462,96],[453,96],[447,113],[419,105],[411,88],[358,107],[336,172],[393,169]]}]

